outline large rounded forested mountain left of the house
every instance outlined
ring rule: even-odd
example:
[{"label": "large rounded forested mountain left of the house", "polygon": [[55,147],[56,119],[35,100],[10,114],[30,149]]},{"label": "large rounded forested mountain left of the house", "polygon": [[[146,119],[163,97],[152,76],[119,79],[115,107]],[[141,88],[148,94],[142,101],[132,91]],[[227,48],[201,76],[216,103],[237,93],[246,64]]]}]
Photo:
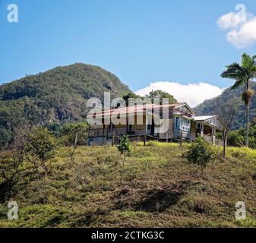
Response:
[{"label": "large rounded forested mountain left of the house", "polygon": [[0,86],[0,143],[11,140],[14,128],[24,124],[80,121],[87,99],[131,92],[118,77],[103,68],[77,63],[28,75]]}]

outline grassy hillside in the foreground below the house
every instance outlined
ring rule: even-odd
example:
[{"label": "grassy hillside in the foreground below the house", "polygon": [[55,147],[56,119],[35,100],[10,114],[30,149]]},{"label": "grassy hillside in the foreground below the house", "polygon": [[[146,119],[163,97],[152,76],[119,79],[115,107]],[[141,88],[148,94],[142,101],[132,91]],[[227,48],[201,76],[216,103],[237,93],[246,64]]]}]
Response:
[{"label": "grassy hillside in the foreground below the house", "polygon": [[[132,146],[123,185],[116,147],[80,147],[74,163],[61,148],[48,178],[22,177],[2,199],[0,227],[256,226],[255,150],[227,148],[226,161],[209,164],[200,183],[198,168],[182,158],[186,145],[147,145]],[[17,221],[6,219],[8,200],[19,205]],[[246,204],[244,221],[235,219],[238,201]]]}]

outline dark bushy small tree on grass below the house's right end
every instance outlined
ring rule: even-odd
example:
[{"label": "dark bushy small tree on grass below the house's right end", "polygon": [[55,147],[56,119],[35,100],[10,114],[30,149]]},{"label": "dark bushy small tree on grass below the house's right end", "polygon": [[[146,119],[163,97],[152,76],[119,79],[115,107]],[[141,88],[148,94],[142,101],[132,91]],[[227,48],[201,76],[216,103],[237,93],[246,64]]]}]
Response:
[{"label": "dark bushy small tree on grass below the house's right end", "polygon": [[213,162],[215,159],[215,152],[213,147],[207,143],[203,138],[198,137],[194,143],[185,153],[185,157],[188,159],[189,163],[196,164],[201,167],[200,181],[202,181],[204,169],[208,163]]}]

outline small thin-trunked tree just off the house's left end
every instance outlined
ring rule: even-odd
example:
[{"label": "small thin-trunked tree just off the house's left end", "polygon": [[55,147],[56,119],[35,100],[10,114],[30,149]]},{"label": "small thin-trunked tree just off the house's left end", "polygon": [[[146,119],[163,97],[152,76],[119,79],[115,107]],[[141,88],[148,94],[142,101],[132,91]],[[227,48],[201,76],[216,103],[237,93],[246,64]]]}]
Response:
[{"label": "small thin-trunked tree just off the house's left end", "polygon": [[87,122],[71,122],[62,128],[62,137],[65,144],[71,148],[71,161],[74,160],[74,153],[78,145],[84,145],[87,142],[89,125]]}]

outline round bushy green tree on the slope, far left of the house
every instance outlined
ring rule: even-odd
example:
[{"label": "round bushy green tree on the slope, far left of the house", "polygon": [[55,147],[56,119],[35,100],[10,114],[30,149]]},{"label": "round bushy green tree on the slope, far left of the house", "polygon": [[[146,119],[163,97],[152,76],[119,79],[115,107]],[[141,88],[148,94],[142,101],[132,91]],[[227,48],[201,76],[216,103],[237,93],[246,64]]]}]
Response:
[{"label": "round bushy green tree on the slope, far left of the house", "polygon": [[27,136],[25,151],[32,159],[35,168],[40,166],[48,173],[46,162],[55,156],[57,140],[47,128],[33,128]]}]

